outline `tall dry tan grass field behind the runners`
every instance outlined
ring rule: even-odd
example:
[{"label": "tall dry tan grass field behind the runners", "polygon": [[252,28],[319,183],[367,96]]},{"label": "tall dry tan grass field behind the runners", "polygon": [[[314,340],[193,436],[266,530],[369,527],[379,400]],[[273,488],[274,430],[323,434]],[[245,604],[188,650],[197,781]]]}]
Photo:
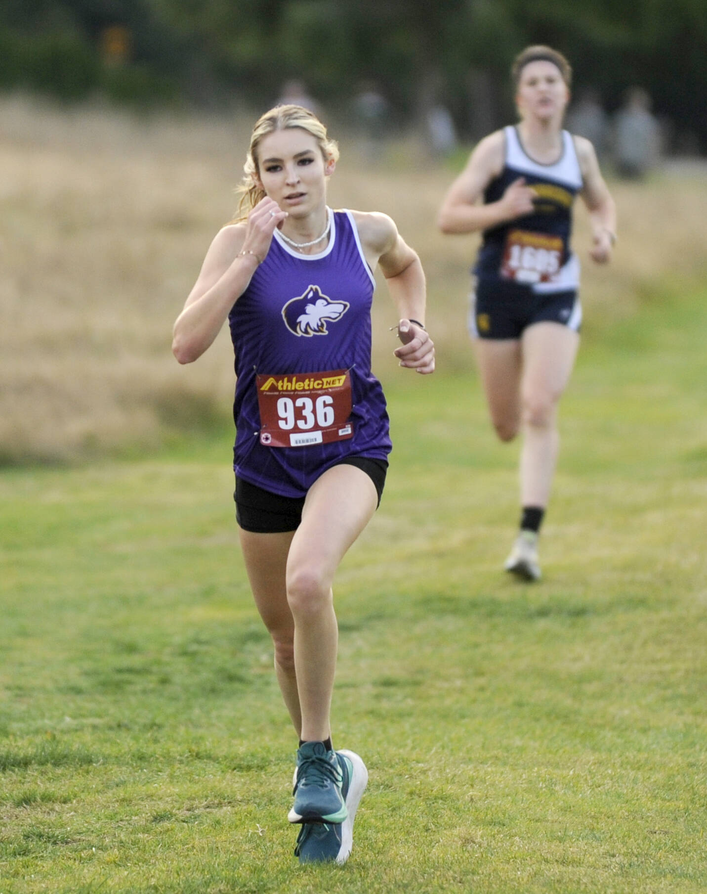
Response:
[{"label": "tall dry tan grass field behind the runners", "polygon": [[[231,215],[249,121],[133,119],[0,103],[0,459],[69,460],[158,443],[229,406],[225,333],[193,367],[170,352],[173,319],[206,248]],[[467,367],[467,268],[476,240],[443,237],[437,207],[452,174],[400,150],[371,171],[343,157],[335,207],[391,214],[420,253],[442,368]],[[585,263],[589,319],[635,314],[668,283],[705,268],[707,178],[615,184],[616,263]],[[585,256],[585,215],[577,248]],[[395,311],[375,309],[375,358],[390,355]]]}]

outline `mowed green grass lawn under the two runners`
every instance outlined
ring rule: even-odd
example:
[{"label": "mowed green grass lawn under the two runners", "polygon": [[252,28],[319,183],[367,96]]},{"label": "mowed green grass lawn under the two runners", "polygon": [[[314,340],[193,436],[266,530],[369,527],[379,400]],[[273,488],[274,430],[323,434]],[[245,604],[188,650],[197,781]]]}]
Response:
[{"label": "mowed green grass lawn under the two runners", "polygon": [[470,360],[383,370],[389,482],[336,582],[343,868],[291,853],[228,429],[4,470],[0,892],[707,890],[706,340],[707,293],[588,333],[534,586]]}]

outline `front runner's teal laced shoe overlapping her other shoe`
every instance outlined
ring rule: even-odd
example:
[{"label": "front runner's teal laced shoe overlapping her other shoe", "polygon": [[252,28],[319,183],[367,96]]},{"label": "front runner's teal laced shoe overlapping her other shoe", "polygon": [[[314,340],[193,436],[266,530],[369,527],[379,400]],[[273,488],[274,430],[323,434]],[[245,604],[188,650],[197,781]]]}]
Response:
[{"label": "front runner's teal laced shoe overlapping her other shoe", "polygon": [[323,742],[305,742],[297,752],[295,803],[290,822],[343,822],[346,802],[341,794],[342,772],[336,752]]}]

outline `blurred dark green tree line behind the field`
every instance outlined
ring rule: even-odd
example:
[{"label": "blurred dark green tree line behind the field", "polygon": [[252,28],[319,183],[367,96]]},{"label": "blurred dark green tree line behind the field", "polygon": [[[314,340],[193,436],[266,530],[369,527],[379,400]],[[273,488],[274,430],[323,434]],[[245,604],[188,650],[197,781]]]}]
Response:
[{"label": "blurred dark green tree line behind the field", "polygon": [[644,87],[707,152],[707,0],[3,0],[0,88],[262,109],[296,77],[335,114],[366,80],[401,124],[443,103],[476,139],[512,115],[509,64],[532,43],[609,110]]}]

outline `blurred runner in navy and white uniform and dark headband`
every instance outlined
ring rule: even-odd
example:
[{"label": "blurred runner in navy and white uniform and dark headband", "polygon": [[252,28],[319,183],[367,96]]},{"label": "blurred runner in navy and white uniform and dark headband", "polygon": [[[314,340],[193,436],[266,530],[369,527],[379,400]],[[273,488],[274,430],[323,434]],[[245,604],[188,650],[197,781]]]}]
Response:
[{"label": "blurred runner in navy and white uniform and dark headband", "polygon": [[610,260],[614,202],[588,139],[562,130],[572,70],[549,46],[528,46],[512,69],[520,122],[481,140],[440,211],[442,232],[483,232],[469,329],[501,441],[523,433],[520,531],[505,569],[541,576],[537,541],[559,449],[557,406],[579,344],[579,261],[572,205],[592,224],[590,257]]}]

